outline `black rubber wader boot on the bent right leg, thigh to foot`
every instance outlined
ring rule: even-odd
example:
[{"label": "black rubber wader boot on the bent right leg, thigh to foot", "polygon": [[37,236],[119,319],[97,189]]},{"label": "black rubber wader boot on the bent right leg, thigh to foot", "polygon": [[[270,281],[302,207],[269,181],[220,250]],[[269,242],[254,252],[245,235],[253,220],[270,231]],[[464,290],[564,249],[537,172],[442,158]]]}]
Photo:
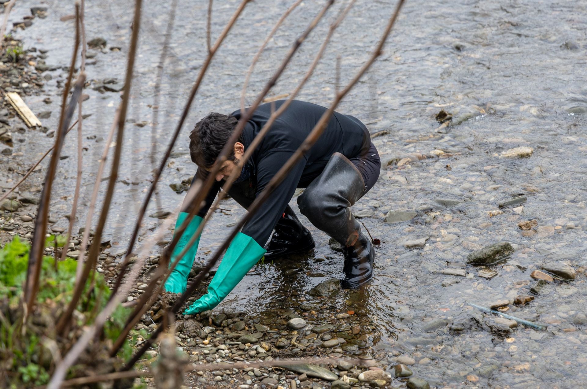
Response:
[{"label": "black rubber wader boot on the bent right leg, thigh to foot", "polygon": [[310,222],[342,244],[345,278],[340,285],[356,288],[373,277],[375,251],[350,212],[365,193],[359,170],[345,156],[334,153],[322,173],[298,197],[299,209]]}]

